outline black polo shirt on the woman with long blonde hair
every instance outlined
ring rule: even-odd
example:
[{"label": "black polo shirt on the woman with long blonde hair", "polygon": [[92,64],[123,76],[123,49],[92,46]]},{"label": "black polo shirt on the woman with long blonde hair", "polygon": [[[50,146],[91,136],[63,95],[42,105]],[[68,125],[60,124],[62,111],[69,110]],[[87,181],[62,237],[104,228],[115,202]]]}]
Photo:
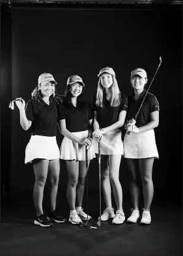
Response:
[{"label": "black polo shirt on the woman with long blonde hair", "polygon": [[92,110],[96,111],[97,121],[100,128],[111,126],[119,120],[119,113],[122,110],[128,109],[128,98],[125,94],[121,94],[121,102],[117,107],[111,107],[110,100],[106,97],[103,99],[104,107],[98,107],[96,105],[96,96],[92,99]]}]

